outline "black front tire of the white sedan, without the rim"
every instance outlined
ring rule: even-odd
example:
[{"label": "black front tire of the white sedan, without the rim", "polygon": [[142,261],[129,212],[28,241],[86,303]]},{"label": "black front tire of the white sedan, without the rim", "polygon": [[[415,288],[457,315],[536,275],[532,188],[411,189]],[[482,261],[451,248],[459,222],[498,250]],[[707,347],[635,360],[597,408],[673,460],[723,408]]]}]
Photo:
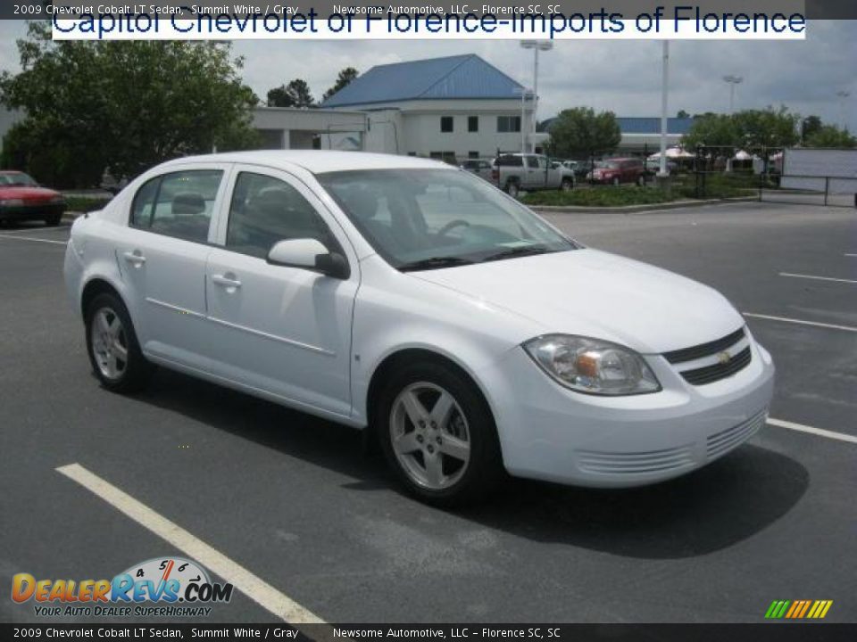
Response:
[{"label": "black front tire of the white sedan, without the rim", "polygon": [[[452,395],[462,411],[470,444],[470,460],[464,466],[461,477],[440,490],[420,485],[399,461],[393,446],[394,403],[400,393],[414,384],[422,383],[437,385]],[[494,416],[477,386],[458,368],[431,361],[397,368],[387,378],[377,401],[372,413],[373,429],[379,438],[387,464],[413,497],[434,506],[463,506],[485,498],[503,478],[503,457]],[[457,410],[454,410],[454,413],[457,413]],[[452,418],[449,422],[452,422]],[[416,426],[412,424],[412,428],[416,432]],[[445,435],[446,432],[441,428],[435,434]],[[430,441],[431,439],[428,439],[426,443]],[[440,443],[440,440],[437,443]],[[430,446],[427,445],[426,448],[430,449]],[[438,449],[437,457],[439,456]]]}]

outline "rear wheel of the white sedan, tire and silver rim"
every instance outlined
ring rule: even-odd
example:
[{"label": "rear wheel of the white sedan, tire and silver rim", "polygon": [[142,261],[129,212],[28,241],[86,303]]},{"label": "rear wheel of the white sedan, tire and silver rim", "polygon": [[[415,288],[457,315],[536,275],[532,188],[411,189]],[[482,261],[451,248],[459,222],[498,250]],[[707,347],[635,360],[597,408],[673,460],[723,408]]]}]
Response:
[{"label": "rear wheel of the white sedan, tire and silver rim", "polygon": [[87,308],[87,353],[98,380],[112,392],[140,390],[153,366],[137,343],[128,309],[111,293],[99,294]]}]

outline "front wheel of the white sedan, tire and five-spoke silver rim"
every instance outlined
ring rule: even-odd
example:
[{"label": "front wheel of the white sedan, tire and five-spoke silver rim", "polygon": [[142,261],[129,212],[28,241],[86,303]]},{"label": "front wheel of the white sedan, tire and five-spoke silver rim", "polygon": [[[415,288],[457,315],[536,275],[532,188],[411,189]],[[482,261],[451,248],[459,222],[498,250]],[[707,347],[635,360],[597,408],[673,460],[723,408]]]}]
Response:
[{"label": "front wheel of the white sedan, tire and five-spoke silver rim", "polygon": [[387,463],[423,501],[473,501],[503,473],[491,411],[475,384],[451,366],[428,362],[399,369],[374,416]]}]

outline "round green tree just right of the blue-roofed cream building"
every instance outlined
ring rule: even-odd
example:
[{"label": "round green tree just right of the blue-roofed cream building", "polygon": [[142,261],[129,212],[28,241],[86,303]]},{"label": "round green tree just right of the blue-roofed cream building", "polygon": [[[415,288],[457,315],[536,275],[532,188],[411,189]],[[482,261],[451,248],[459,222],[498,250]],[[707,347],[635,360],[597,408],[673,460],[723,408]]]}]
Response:
[{"label": "round green tree just right of the blue-roofed cream building", "polygon": [[612,152],[622,139],[616,115],[591,107],[562,110],[549,132],[548,153],[563,158]]}]

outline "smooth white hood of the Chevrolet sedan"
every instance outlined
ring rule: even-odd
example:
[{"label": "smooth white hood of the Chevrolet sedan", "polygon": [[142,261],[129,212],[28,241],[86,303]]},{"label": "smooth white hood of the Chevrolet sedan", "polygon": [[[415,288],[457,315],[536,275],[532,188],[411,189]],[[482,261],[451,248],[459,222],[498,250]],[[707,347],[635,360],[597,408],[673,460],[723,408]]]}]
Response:
[{"label": "smooth white hood of the Chevrolet sedan", "polygon": [[707,285],[591,249],[410,274],[527,317],[537,333],[596,337],[644,354],[710,342],[744,325]]}]

